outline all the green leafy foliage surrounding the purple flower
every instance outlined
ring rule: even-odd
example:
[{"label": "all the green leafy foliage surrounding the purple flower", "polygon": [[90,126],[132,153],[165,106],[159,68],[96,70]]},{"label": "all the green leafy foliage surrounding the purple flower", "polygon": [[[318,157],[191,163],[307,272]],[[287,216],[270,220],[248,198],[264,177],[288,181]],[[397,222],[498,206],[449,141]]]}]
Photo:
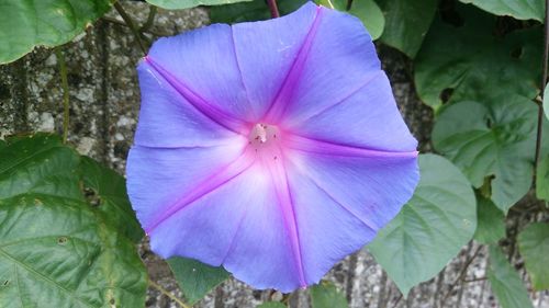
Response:
[{"label": "all the green leafy foliage surrounding the purple flower", "polygon": [[[147,2],[165,9],[213,5],[212,22],[271,18],[265,0]],[[277,2],[283,15],[306,0]],[[345,0],[316,2],[356,15],[378,45],[412,59],[407,72],[417,95],[435,112],[432,141],[441,156],[421,156],[422,180],[413,198],[370,243],[371,253],[407,294],[474,238],[490,246],[486,275],[502,307],[531,307],[497,243],[506,236],[509,209],[522,207],[523,198],[537,203],[527,210],[547,219],[547,121],[534,170],[536,101],[549,118],[549,90],[539,89],[544,1],[355,0],[349,10]],[[2,1],[0,64],[36,46],[69,42],[112,3]],[[534,175],[537,199],[528,194]],[[530,224],[511,239],[536,289],[549,288],[548,232],[546,223]],[[142,238],[122,175],[52,135],[0,140],[0,307],[143,307],[147,275],[135,247]],[[190,304],[229,275],[182,258],[168,263]],[[329,283],[312,287],[310,295],[314,308],[347,307]],[[47,304],[40,300],[44,297]]]}]

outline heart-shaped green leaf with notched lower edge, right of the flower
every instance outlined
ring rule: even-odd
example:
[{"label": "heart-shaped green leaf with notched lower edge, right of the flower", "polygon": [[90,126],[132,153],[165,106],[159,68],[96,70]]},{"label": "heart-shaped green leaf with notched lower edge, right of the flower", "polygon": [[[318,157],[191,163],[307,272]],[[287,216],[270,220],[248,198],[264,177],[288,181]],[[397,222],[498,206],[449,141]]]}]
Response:
[{"label": "heart-shaped green leaf with notched lower edge, right of the flower", "polygon": [[530,189],[536,104],[508,95],[491,104],[459,102],[438,116],[435,149],[480,187],[491,180],[492,201],[504,213]]}]

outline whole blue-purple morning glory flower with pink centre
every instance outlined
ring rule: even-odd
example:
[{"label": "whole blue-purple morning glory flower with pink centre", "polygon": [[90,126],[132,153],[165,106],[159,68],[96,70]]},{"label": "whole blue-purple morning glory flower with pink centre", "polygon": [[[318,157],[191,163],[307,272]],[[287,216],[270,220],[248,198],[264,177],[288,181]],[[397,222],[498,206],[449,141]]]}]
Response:
[{"label": "whole blue-purple morning glory flower with pink centre", "polygon": [[138,75],[127,187],[164,258],[291,292],[372,240],[417,184],[417,142],[346,13],[307,3],[160,38]]}]

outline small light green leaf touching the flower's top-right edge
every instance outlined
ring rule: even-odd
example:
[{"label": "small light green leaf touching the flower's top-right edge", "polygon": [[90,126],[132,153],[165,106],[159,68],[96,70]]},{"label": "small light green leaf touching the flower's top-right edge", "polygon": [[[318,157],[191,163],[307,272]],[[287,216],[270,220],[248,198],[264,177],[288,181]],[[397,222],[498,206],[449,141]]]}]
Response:
[{"label": "small light green leaf touching the flower's top-right edge", "polygon": [[[346,12],[347,0],[316,0],[318,4],[326,8]],[[365,24],[372,39],[377,39],[383,33],[385,26],[385,18],[383,12],[373,0],[354,1],[348,13],[357,16]]]}]

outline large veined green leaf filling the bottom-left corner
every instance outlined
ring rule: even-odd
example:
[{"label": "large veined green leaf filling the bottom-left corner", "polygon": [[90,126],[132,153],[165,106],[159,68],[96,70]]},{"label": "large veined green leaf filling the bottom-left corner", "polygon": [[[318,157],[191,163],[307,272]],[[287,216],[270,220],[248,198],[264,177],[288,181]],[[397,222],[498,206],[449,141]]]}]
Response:
[{"label": "large veined green leaf filling the bottom-left corner", "polygon": [[143,307],[146,286],[133,243],[86,203],[0,201],[0,307]]}]

